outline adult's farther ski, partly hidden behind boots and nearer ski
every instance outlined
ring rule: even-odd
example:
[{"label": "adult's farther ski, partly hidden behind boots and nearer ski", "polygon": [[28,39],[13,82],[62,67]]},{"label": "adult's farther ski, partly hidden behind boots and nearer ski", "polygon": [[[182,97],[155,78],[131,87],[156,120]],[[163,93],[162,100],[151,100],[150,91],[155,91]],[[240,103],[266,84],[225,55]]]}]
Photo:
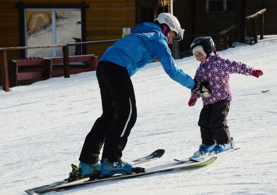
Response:
[{"label": "adult's farther ski, partly hidden behind boots and nearer ski", "polygon": [[[163,149],[158,149],[156,151],[154,151],[152,154],[148,155],[148,156],[145,156],[145,157],[142,157],[142,158],[138,158],[138,159],[135,159],[133,160],[133,164],[141,164],[141,163],[145,163],[145,162],[148,162],[148,161],[151,161],[151,160],[156,160],[160,157],[162,157],[165,153],[165,150]],[[77,167],[75,165],[72,165],[72,167]],[[79,177],[76,177],[76,178],[71,178],[71,177],[68,177],[66,179],[63,179],[61,181],[56,181],[56,182],[53,182],[53,183],[50,183],[50,184],[47,184],[47,185],[42,185],[42,186],[38,186],[38,187],[34,187],[34,188],[31,188],[31,189],[27,189],[25,190],[25,192],[29,193],[29,194],[34,194],[36,193],[37,190],[42,190],[42,189],[47,189],[47,188],[50,188],[50,187],[56,187],[56,186],[59,186],[59,185],[62,185],[62,184],[66,184],[66,183],[71,183],[73,181],[77,181],[77,180],[84,180],[84,179],[87,179],[89,176],[88,175],[84,175],[84,176],[79,176]]]}]

